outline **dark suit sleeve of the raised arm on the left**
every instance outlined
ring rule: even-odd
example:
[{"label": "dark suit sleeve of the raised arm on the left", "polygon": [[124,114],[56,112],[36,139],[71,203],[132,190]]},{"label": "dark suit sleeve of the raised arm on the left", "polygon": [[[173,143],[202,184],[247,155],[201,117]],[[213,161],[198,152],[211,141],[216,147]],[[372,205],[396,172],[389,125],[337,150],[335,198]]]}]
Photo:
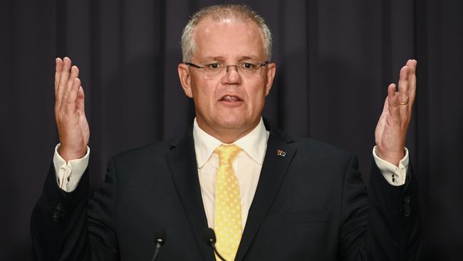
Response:
[{"label": "dark suit sleeve of the raised arm on the left", "polygon": [[89,200],[88,168],[76,190],[58,187],[53,164],[31,216],[35,260],[119,260],[115,232],[115,163],[103,187]]}]

